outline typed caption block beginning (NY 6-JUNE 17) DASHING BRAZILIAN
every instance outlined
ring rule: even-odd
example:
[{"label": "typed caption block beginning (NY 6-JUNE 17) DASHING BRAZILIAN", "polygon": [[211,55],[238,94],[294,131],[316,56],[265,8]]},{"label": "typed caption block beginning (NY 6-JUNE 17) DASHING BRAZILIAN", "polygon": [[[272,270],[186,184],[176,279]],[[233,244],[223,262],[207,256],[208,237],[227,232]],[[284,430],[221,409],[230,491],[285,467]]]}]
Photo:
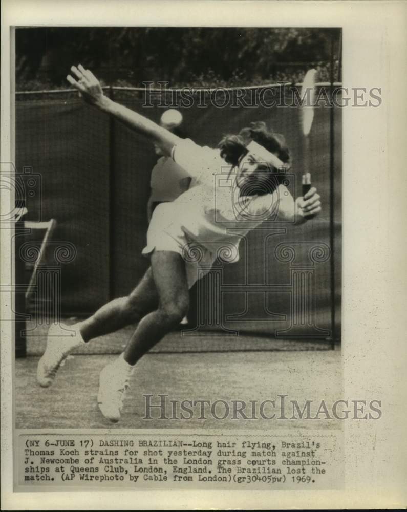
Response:
[{"label": "typed caption block beginning (NY 6-JUNE 17) DASHING BRAZILIAN", "polygon": [[341,438],[336,431],[20,435],[16,490],[336,489],[342,485]]}]

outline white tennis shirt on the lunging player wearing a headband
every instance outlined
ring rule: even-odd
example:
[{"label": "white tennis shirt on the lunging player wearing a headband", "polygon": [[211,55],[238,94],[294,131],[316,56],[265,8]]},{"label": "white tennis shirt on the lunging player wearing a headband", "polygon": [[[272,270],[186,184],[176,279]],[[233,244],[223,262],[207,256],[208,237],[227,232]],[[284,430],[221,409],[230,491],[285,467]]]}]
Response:
[{"label": "white tennis shirt on the lunging player wearing a headband", "polygon": [[[239,243],[251,229],[270,216],[276,222],[294,220],[294,199],[287,187],[278,185],[271,194],[240,197],[235,184],[238,169],[227,164],[220,150],[183,139],[173,147],[173,160],[192,178],[189,190],[167,205],[170,234],[175,225],[215,253],[226,242],[233,247],[230,261],[239,259]],[[154,214],[153,214],[154,216]]]}]

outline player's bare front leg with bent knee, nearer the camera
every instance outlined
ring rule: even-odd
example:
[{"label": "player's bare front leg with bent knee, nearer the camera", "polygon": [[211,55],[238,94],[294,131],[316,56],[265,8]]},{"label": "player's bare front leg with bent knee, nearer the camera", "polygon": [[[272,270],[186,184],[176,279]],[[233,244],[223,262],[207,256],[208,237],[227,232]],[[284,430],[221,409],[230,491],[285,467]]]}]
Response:
[{"label": "player's bare front leg with bent knee, nearer the camera", "polygon": [[185,262],[172,251],[155,251],[151,257],[158,292],[158,309],[139,322],[124,351],[124,360],[135,365],[151,347],[174,327],[188,312],[189,290]]}]

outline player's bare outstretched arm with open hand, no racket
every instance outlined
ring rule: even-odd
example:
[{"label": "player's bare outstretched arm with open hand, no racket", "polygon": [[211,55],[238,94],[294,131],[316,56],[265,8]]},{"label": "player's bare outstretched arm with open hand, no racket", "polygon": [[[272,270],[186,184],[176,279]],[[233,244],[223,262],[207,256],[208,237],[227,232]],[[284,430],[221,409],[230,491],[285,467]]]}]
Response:
[{"label": "player's bare outstretched arm with open hand, no racket", "polygon": [[103,94],[99,80],[92,71],[84,69],[80,64],[78,67],[72,66],[71,71],[76,79],[68,75],[67,80],[79,91],[80,95],[87,103],[90,103],[106,114],[112,115],[131,130],[145,135],[152,142],[160,146],[164,155],[170,156],[172,148],[182,140],[157,123],[106,97]]}]

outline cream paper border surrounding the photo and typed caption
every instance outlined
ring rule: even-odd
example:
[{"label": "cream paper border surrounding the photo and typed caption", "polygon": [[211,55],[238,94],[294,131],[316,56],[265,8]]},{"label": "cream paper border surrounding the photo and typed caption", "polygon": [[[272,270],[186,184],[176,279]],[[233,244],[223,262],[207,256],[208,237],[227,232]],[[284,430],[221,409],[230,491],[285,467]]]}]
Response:
[{"label": "cream paper border surrounding the photo and typed caption", "polygon": [[[379,108],[343,112],[342,353],[345,398],[382,402],[380,421],[345,425],[342,491],[12,492],[12,325],[2,334],[2,508],[397,508],[405,506],[404,2],[3,0],[2,162],[14,161],[13,26],[342,27],[345,87],[379,87]],[[11,80],[8,80],[10,76]],[[2,212],[12,201],[2,190]],[[10,211],[10,210],[8,210]],[[404,214],[403,214],[404,211]],[[10,238],[1,233],[3,282]],[[404,299],[404,300],[403,300]],[[2,317],[10,305],[2,298]],[[272,493],[272,494],[271,494]]]}]

